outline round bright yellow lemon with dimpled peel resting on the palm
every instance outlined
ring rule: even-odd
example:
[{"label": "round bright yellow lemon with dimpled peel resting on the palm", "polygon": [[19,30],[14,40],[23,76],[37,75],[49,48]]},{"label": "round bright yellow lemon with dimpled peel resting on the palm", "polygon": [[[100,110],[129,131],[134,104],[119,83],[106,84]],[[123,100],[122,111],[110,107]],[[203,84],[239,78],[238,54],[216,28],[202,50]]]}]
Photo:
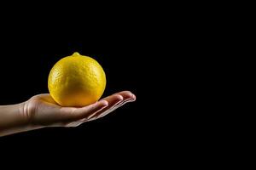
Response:
[{"label": "round bright yellow lemon with dimpled peel resting on the palm", "polygon": [[102,66],[88,56],[74,53],[60,59],[49,72],[49,94],[61,106],[85,106],[101,98],[106,87]]}]

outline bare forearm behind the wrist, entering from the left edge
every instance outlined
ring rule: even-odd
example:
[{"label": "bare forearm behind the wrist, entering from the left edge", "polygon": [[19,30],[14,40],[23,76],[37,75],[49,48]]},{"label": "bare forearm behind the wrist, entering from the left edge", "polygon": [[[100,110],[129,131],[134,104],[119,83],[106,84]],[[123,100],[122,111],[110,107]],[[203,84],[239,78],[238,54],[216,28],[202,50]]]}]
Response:
[{"label": "bare forearm behind the wrist, entering from the left edge", "polygon": [[24,103],[0,106],[0,136],[26,131]]}]

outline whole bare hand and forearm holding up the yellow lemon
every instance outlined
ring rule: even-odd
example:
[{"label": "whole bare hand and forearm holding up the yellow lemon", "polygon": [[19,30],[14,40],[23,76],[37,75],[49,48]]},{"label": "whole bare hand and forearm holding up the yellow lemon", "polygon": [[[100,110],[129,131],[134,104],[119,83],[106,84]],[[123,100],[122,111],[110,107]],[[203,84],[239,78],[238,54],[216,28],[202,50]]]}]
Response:
[{"label": "whole bare hand and forearm holding up the yellow lemon", "polygon": [[38,94],[17,105],[0,106],[0,136],[43,127],[77,127],[96,120],[136,100],[129,91],[119,92],[84,107],[61,107],[49,94]]}]

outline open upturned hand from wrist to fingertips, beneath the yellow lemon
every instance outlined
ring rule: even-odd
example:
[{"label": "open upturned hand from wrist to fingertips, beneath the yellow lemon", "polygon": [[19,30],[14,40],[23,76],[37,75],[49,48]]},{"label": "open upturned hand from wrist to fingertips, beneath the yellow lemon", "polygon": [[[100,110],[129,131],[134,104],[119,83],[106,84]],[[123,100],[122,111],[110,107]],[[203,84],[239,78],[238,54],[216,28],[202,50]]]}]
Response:
[{"label": "open upturned hand from wrist to fingertips, beneath the yellow lemon", "polygon": [[84,107],[61,107],[49,94],[39,94],[24,104],[23,116],[33,126],[76,127],[83,122],[96,120],[136,99],[129,91],[110,95]]}]

